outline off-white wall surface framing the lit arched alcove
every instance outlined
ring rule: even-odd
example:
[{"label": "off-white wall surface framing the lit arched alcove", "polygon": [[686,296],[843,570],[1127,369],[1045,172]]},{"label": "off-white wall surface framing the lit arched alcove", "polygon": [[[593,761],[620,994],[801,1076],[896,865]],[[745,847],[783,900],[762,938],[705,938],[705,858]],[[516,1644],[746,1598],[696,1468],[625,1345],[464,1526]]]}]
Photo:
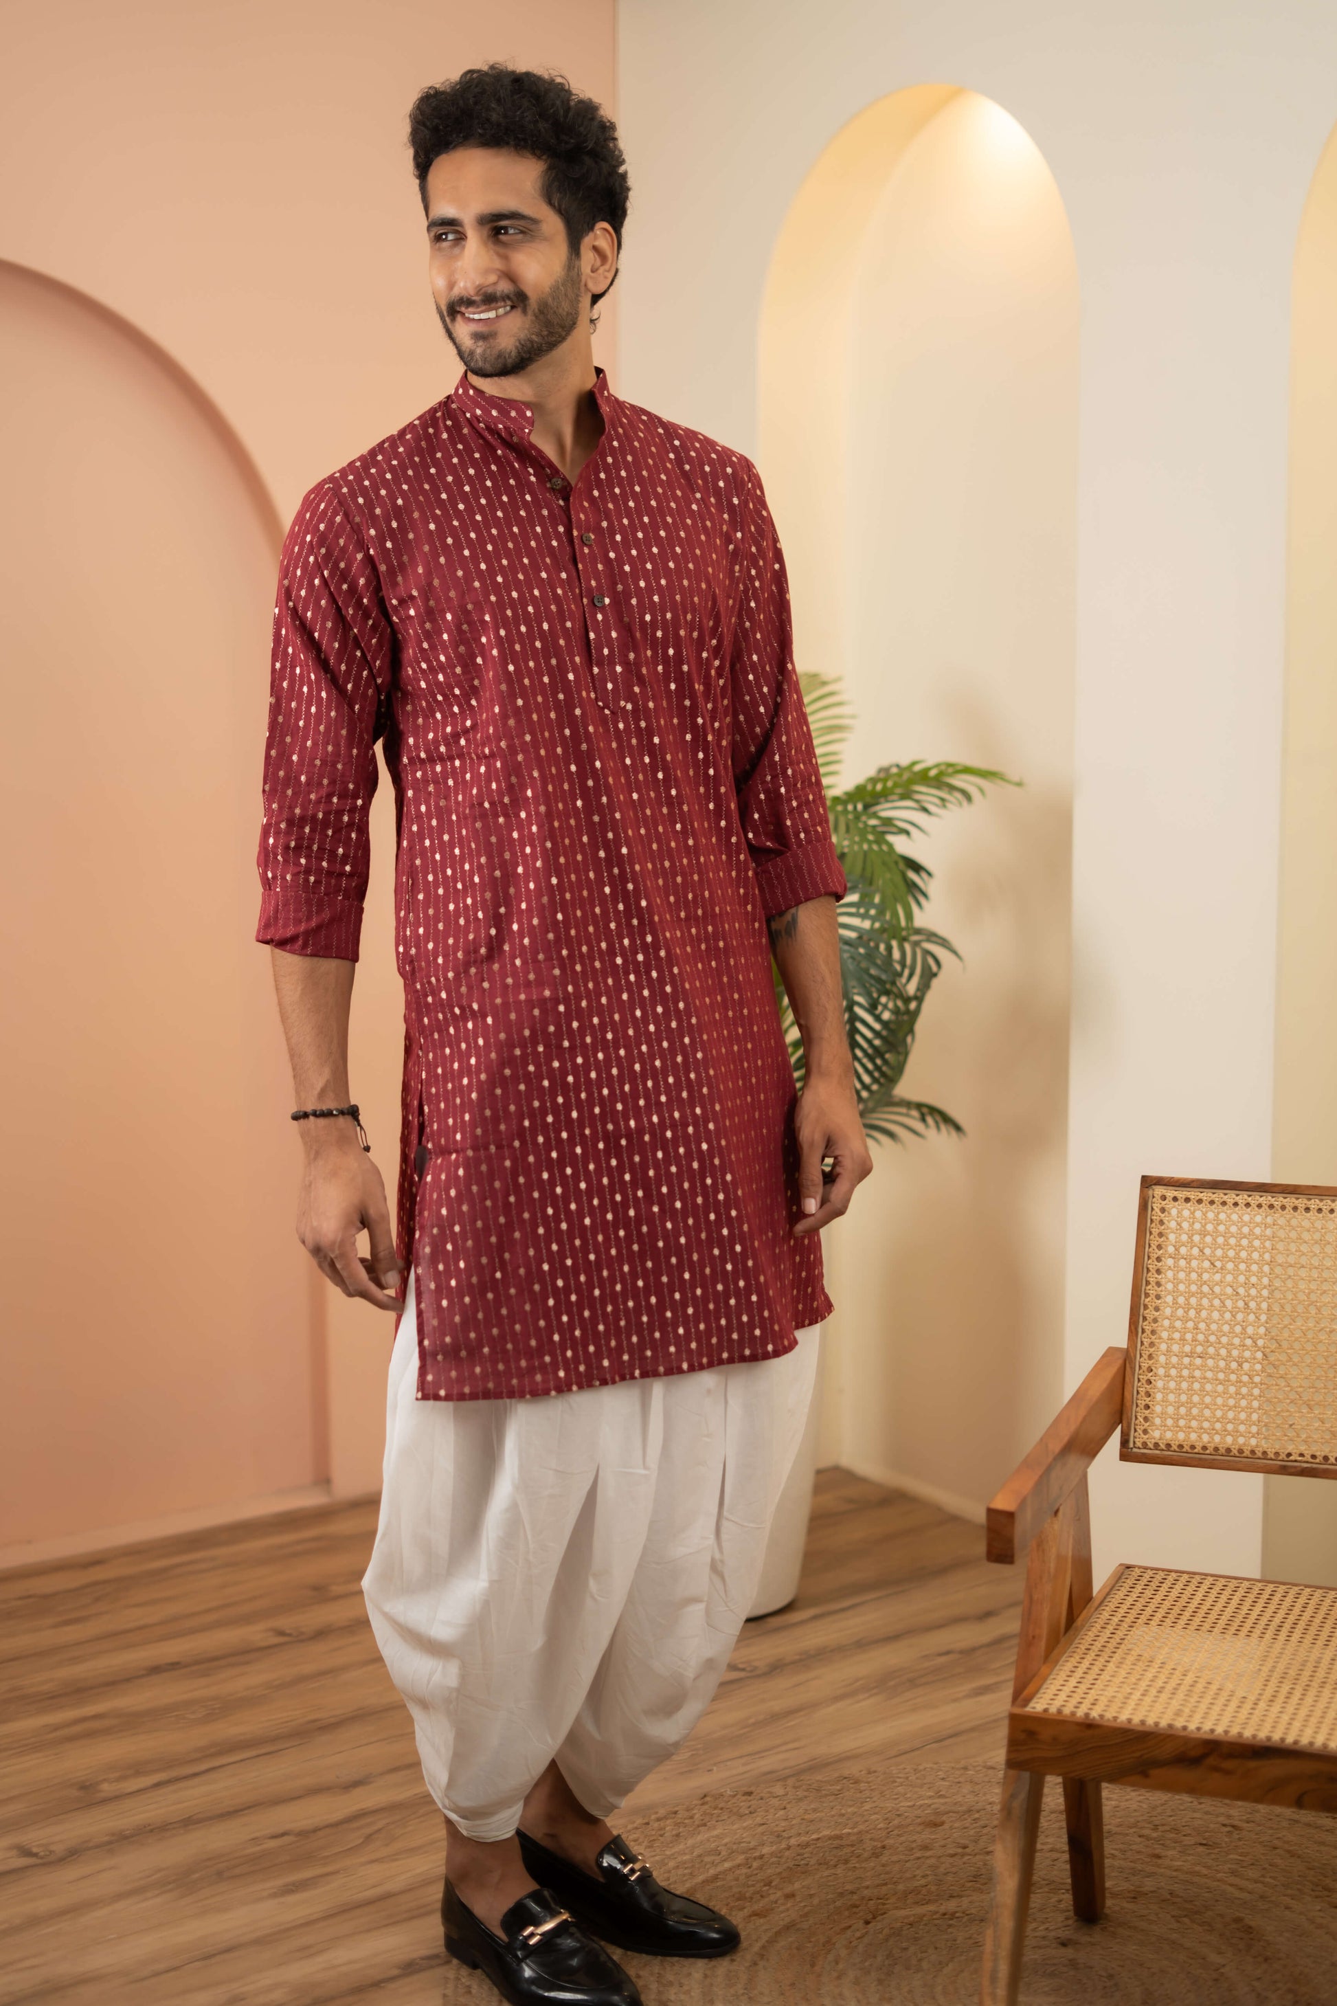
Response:
[{"label": "off-white wall surface framing the lit arched alcove", "polygon": [[[1125,1338],[1139,1174],[1271,1172],[1291,255],[1337,116],[1337,14],[623,0],[619,66],[621,387],[746,451],[772,247],[850,116],[968,86],[1020,120],[1064,201],[1082,293],[1072,1384]],[[814,371],[822,285],[818,233]],[[1096,1476],[1098,1563],[1257,1569],[1259,1478],[1110,1458]]]}]

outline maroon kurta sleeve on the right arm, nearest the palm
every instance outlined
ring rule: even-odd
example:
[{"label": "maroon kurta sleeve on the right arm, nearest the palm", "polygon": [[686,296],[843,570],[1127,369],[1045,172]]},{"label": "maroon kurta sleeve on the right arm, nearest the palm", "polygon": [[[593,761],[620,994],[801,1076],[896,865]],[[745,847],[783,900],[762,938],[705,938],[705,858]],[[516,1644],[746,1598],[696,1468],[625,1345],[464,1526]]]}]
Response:
[{"label": "maroon kurta sleeve on the right arm, nearest the palm", "polygon": [[762,479],[748,463],[740,596],[730,662],[734,784],[768,919],[844,899],[822,774],[794,668],[790,586]]}]

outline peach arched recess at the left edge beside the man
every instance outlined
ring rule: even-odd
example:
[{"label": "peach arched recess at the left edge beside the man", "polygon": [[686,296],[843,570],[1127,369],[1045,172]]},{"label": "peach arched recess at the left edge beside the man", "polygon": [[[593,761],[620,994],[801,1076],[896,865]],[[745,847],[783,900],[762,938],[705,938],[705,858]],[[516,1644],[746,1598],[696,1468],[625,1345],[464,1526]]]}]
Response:
[{"label": "peach arched recess at the left edge beside the man", "polygon": [[168,357],[14,265],[0,379],[16,1545],[325,1472],[253,945],[277,516]]}]

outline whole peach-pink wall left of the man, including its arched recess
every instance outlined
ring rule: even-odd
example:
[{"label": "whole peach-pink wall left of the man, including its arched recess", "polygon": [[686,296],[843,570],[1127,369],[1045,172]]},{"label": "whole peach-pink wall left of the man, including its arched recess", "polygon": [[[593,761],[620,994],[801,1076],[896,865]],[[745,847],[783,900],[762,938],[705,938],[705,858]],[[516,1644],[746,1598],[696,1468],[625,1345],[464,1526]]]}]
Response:
[{"label": "whole peach-pink wall left of the man, including its arched recess", "polygon": [[[253,943],[275,540],[315,479],[459,373],[425,285],[413,92],[501,56],[611,102],[613,4],[10,14],[14,1559],[377,1482],[389,1322],[313,1286],[293,1238],[291,1083]],[[393,1180],[389,794],[375,843],[353,1091]]]}]

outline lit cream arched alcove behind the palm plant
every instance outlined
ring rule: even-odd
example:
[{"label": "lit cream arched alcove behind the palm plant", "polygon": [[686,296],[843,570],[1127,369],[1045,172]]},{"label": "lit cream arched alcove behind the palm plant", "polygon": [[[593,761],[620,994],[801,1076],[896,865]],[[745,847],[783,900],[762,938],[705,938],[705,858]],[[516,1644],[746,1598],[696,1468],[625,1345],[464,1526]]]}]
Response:
[{"label": "lit cream arched alcove behind the palm plant", "polygon": [[968,1137],[882,1145],[826,1236],[824,1450],[976,1515],[1062,1384],[1076,363],[1062,199],[1014,118],[918,86],[830,142],[760,347],[800,666],[846,680],[846,778],[958,758],[1024,788],[922,847],[964,965],[906,1089]]}]

